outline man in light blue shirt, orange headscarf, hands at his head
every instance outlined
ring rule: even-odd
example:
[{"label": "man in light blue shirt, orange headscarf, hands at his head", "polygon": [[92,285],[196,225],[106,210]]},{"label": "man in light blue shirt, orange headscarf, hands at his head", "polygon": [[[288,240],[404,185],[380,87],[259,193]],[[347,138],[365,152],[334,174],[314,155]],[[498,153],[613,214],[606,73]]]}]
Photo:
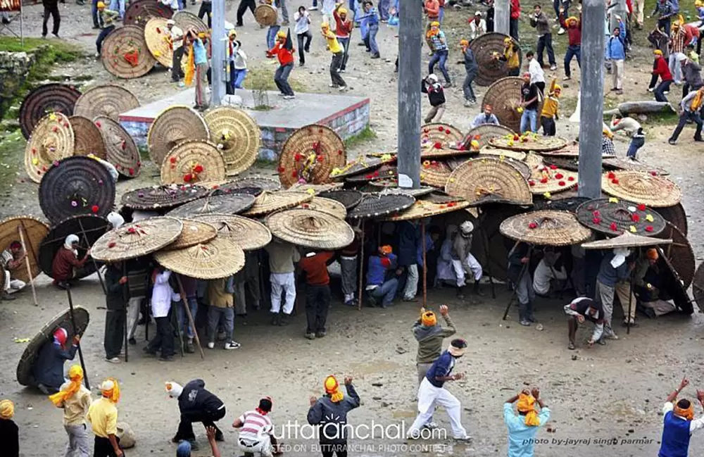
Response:
[{"label": "man in light blue shirt, orange headscarf, hands at his head", "polygon": [[[513,403],[518,414],[513,413]],[[540,406],[536,411],[535,403]],[[540,398],[540,390],[523,389],[503,403],[503,422],[508,428],[508,457],[533,457],[533,446],[538,428],[550,419],[550,409]]]}]

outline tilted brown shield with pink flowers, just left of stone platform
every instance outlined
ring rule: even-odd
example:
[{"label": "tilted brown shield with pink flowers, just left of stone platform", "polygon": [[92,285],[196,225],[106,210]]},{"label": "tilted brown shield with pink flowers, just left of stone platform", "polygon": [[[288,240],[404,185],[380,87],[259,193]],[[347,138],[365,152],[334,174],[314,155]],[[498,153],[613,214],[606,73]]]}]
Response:
[{"label": "tilted brown shield with pink flowers, just left of stone platform", "polygon": [[142,170],[142,158],[132,136],[120,123],[112,118],[98,116],[93,122],[103,137],[107,151],[107,161],[120,175],[135,177]]}]

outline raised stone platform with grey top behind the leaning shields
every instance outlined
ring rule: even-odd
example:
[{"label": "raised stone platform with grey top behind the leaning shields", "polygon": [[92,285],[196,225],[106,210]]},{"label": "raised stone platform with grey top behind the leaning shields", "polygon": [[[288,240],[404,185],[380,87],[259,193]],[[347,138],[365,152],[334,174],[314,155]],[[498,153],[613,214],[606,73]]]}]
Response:
[{"label": "raised stone platform with grey top behind the leaning shields", "polygon": [[[173,105],[193,106],[195,89],[177,92],[165,99],[140,106],[120,114],[120,124],[130,132],[138,146],[146,146],[146,134],[154,118]],[[287,138],[297,129],[309,124],[327,125],[342,139],[353,137],[369,125],[369,99],[330,94],[303,94],[284,100],[277,92],[267,92],[268,110],[255,108],[252,91],[238,89],[234,96],[227,95],[224,105],[237,106],[256,120],[262,134],[259,158],[276,161]]]}]

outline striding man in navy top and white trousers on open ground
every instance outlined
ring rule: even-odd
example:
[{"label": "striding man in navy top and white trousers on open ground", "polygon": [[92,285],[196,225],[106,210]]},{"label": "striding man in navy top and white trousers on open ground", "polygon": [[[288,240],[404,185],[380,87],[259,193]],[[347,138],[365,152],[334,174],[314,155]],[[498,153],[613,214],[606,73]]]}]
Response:
[{"label": "striding man in navy top and white trousers on open ground", "polygon": [[464,355],[466,349],[467,342],[464,339],[453,339],[447,351],[433,362],[418,388],[418,415],[408,430],[408,437],[420,438],[420,428],[432,418],[435,407],[442,406],[450,416],[453,439],[472,439],[462,426],[462,403],[444,388],[446,381],[457,381],[464,377],[462,373],[451,373],[455,368],[455,361]]}]

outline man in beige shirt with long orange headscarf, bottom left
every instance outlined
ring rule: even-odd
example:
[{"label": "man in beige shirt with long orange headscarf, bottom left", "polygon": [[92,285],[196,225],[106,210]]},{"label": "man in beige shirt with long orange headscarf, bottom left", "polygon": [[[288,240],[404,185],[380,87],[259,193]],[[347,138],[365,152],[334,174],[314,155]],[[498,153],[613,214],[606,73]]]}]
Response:
[{"label": "man in beige shirt with long orange headscarf, bottom left", "polygon": [[90,444],[86,430],[85,416],[91,404],[90,391],[83,385],[81,365],[71,365],[68,369],[68,382],[58,393],[49,396],[54,405],[63,408],[63,428],[68,434],[66,455],[88,457]]}]

